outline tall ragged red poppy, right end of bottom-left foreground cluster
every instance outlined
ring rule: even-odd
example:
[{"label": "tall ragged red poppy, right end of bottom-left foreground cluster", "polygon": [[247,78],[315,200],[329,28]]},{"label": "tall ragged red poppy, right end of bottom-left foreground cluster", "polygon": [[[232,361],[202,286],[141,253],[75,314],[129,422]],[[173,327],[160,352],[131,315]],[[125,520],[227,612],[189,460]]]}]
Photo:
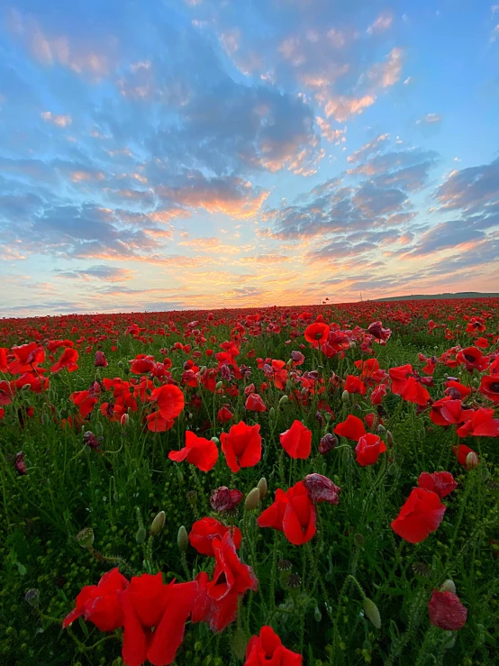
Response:
[{"label": "tall ragged red poppy, right end of bottom-left foreground cluster", "polygon": [[227,532],[222,540],[213,539],[215,568],[210,580],[205,571],[199,573],[193,622],[209,622],[213,632],[221,632],[236,619],[238,601],[249,589],[256,591],[259,581],[251,567],[243,564]]}]

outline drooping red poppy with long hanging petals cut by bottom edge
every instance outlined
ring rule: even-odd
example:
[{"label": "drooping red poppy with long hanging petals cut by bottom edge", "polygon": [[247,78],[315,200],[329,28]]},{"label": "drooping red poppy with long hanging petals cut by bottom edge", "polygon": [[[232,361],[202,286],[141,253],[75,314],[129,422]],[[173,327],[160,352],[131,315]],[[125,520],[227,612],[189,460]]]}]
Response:
[{"label": "drooping red poppy with long hanging petals cut by bottom edge", "polygon": [[[126,666],[174,661],[197,593],[195,582],[163,583],[163,575],[134,576],[120,594],[123,611],[122,658]],[[152,630],[152,631],[151,631]]]}]

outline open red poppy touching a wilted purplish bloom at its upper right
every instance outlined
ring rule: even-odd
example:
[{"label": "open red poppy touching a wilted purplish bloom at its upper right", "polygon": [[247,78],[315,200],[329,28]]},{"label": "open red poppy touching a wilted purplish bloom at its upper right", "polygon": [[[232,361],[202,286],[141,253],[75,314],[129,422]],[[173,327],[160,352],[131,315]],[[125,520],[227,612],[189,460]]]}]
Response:
[{"label": "open red poppy touching a wilted purplish bloom at its upper right", "polygon": [[260,527],[284,532],[286,539],[295,546],[310,541],[317,531],[316,512],[304,483],[298,481],[286,493],[277,488],[274,504],[259,515],[257,522]]}]

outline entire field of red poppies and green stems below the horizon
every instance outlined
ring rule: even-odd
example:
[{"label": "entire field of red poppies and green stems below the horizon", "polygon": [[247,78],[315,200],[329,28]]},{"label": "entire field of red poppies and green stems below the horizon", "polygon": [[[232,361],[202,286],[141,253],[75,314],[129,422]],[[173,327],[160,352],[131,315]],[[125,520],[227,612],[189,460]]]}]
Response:
[{"label": "entire field of red poppies and green stems below the horizon", "polygon": [[0,663],[497,664],[499,299],[0,320]]}]

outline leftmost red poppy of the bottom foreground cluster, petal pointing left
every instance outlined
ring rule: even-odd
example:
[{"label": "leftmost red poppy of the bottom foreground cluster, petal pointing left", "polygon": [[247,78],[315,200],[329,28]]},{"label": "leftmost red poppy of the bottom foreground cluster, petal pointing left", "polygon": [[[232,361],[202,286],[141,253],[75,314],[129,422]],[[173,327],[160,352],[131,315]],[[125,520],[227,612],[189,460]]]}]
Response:
[{"label": "leftmost red poppy of the bottom foreground cluster, petal pointing left", "polygon": [[64,618],[63,628],[81,616],[103,632],[114,631],[122,626],[124,618],[119,592],[129,585],[119,569],[107,571],[97,585],[86,585],[81,590],[77,596],[77,606]]}]

